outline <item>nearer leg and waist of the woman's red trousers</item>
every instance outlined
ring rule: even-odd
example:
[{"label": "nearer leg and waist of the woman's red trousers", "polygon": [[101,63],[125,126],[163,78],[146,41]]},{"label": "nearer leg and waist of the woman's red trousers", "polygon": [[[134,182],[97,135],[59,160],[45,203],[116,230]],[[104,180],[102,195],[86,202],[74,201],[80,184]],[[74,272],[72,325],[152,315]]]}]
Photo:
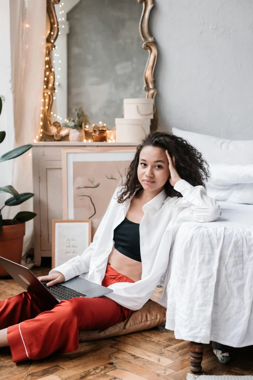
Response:
[{"label": "nearer leg and waist of the woman's red trousers", "polygon": [[[118,281],[134,282],[108,267],[103,286]],[[73,352],[79,347],[79,330],[103,330],[125,320],[131,313],[132,310],[108,297],[61,301],[52,310],[8,327],[7,339],[13,361],[38,360],[53,352]]]}]

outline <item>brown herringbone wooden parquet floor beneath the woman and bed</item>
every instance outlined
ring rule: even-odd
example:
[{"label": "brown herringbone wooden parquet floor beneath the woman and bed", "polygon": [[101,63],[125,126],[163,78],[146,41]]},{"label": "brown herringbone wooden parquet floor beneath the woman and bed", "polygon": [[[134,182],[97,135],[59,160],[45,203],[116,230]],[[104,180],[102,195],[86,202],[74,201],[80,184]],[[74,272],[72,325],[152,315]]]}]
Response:
[{"label": "brown herringbone wooden parquet floor beneath the woman and bed", "polygon": [[[33,268],[36,276],[48,268]],[[0,280],[0,301],[22,292],[14,280]],[[152,297],[157,300],[161,287]],[[220,364],[204,345],[205,375],[253,375],[253,347],[230,348],[232,360]],[[0,348],[0,380],[184,380],[189,373],[189,342],[176,340],[162,326],[138,333],[82,342],[75,352],[39,361],[13,363],[9,347]],[[201,375],[201,374],[200,374]]]}]

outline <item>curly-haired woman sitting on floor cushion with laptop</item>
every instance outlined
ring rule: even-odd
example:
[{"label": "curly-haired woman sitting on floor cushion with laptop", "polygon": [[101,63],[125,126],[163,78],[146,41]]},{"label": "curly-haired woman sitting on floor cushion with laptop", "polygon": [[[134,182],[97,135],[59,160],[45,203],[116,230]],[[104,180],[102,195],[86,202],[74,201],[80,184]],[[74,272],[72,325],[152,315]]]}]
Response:
[{"label": "curly-haired woman sitting on floor cushion with laptop", "polygon": [[[29,292],[0,302],[0,347],[10,346],[14,362],[75,351],[79,330],[106,329],[142,308],[168,267],[181,223],[221,214],[206,195],[205,165],[181,137],[154,132],[142,141],[90,246],[39,277],[51,286],[80,275],[113,293],[63,300],[52,310]],[[166,307],[166,286],[158,302]]]}]

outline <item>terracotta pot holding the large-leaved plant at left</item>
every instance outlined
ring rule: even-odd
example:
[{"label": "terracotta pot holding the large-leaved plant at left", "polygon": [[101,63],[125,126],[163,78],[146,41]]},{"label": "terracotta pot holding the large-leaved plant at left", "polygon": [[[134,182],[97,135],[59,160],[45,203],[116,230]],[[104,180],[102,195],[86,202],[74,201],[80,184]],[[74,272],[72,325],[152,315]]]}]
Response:
[{"label": "terracotta pot holding the large-leaved plant at left", "polygon": [[[11,221],[4,220],[3,222]],[[16,221],[11,226],[3,226],[0,231],[0,256],[21,264],[23,240],[26,224]],[[9,276],[9,273],[0,265],[0,276]]]}]

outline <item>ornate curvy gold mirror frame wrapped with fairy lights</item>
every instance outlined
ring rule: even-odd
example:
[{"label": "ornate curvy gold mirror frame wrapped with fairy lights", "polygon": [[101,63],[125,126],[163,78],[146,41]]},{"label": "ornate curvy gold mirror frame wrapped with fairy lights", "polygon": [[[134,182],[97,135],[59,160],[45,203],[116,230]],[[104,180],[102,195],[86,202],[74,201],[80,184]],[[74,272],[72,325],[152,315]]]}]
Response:
[{"label": "ornate curvy gold mirror frame wrapped with fairy lights", "polygon": [[[59,4],[60,0],[47,0],[47,39],[46,39],[46,57],[45,57],[45,75],[44,75],[44,90],[41,107],[41,135],[43,139],[60,140],[63,136],[69,134],[69,128],[62,128],[58,121],[51,123],[53,94],[55,93],[55,74],[51,63],[50,52],[55,50],[55,41],[58,37],[59,25],[55,12],[55,5]],[[158,116],[155,105],[155,97],[157,89],[154,87],[154,71],[157,63],[158,50],[156,40],[152,37],[148,30],[150,12],[154,7],[154,0],[138,0],[142,4],[142,16],[140,20],[140,34],[142,37],[142,48],[148,50],[148,60],[144,69],[144,91],[146,98],[154,99],[154,118],[151,121],[151,132],[157,131]],[[60,130],[61,129],[61,130]],[[52,136],[48,138],[47,136]]]}]

